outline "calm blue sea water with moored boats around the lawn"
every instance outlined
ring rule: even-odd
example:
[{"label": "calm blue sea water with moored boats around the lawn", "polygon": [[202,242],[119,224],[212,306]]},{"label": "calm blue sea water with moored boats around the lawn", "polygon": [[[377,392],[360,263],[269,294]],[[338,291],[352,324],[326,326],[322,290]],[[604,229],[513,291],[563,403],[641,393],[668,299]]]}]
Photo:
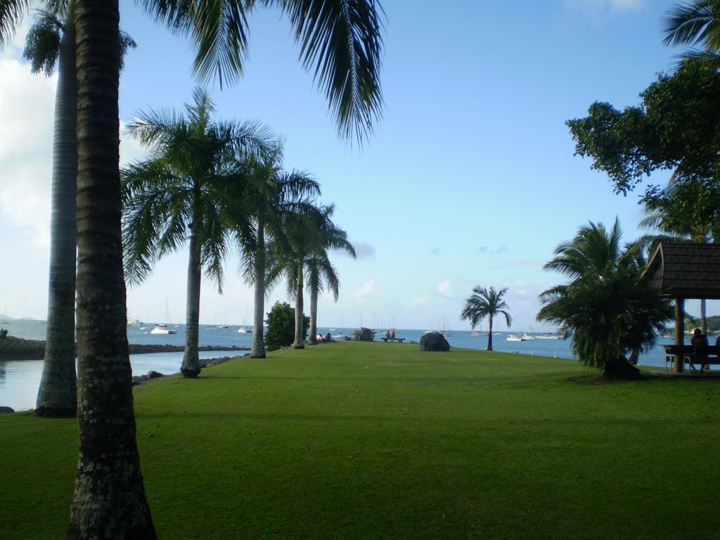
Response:
[{"label": "calm blue sea water with moored boats around the lawn", "polygon": [[[24,339],[45,339],[45,324],[37,320],[9,319],[0,321],[0,328],[6,328],[9,336]],[[138,344],[153,345],[184,345],[184,325],[171,325],[177,331],[176,334],[158,336],[151,334],[152,325],[147,328],[140,328],[138,325],[127,327],[127,341]],[[230,326],[227,329],[217,329],[212,325],[200,325],[200,345],[212,345],[220,347],[247,347],[250,348],[253,336],[251,333],[238,333],[238,326]],[[337,339],[342,336],[350,336],[354,328],[318,328],[318,331],[325,334],[330,331]],[[398,338],[405,338],[405,342],[420,341],[423,330],[396,330]],[[382,333],[379,334],[382,336]],[[376,340],[379,338],[376,337]],[[531,341],[507,341],[507,333],[492,336],[492,348],[495,351],[503,351],[520,354],[534,354],[537,356],[550,356],[553,358],[564,358],[572,361],[574,358],[570,351],[571,339],[546,340],[534,339]],[[451,347],[485,349],[487,347],[487,336],[472,336],[467,331],[453,331],[448,336]],[[665,351],[660,343],[667,340],[660,340],[654,351],[642,356],[641,364],[646,366],[665,366]],[[202,351],[200,357],[203,359],[215,358],[218,356],[234,356],[238,351],[228,353],[222,351]],[[242,354],[242,353],[240,353]],[[132,354],[132,374],[143,375],[150,369],[163,374],[179,372],[182,362],[182,353],[153,353],[153,354]],[[0,359],[0,405],[12,407],[15,410],[27,410],[35,408],[37,388],[40,385],[42,375],[42,359],[4,361]]]}]

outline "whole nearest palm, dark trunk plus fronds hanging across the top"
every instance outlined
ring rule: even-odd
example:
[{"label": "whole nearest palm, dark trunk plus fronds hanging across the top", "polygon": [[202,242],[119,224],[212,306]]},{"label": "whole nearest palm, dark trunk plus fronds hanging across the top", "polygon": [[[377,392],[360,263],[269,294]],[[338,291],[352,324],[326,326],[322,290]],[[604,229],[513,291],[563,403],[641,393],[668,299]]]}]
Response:
[{"label": "whole nearest palm, dark trunk plus fronds hanging across the top", "polygon": [[[149,11],[153,4],[145,0]],[[162,4],[156,6],[159,19],[181,32],[192,31],[199,45],[198,66],[217,66],[221,77],[243,71],[243,7],[251,4],[224,2],[214,13],[198,13],[210,4],[215,6],[211,2],[200,3],[192,12],[184,9],[187,4]],[[361,142],[382,109],[382,40],[374,0],[265,0],[263,4],[281,5],[289,15],[302,42],[305,65],[317,66],[315,73],[338,130],[346,137],[356,135]],[[30,0],[0,1],[0,45],[12,35],[29,5]],[[190,14],[197,17],[188,22]],[[76,278],[80,405],[79,458],[68,538],[100,538],[104,531],[113,531],[116,536],[143,540],[154,539],[156,534],[140,474],[125,333],[117,145],[119,24],[117,0],[82,0],[76,6],[81,104]],[[210,71],[207,68],[204,74]]]}]

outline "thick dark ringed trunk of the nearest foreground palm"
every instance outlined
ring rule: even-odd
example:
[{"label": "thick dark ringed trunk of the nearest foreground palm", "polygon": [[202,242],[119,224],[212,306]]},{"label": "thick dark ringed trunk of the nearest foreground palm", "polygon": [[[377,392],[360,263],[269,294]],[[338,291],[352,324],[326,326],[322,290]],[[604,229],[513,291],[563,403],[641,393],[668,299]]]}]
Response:
[{"label": "thick dark ringed trunk of the nearest foreground palm", "polygon": [[156,539],[135,439],[120,233],[117,0],[78,0],[78,465],[68,539]]}]

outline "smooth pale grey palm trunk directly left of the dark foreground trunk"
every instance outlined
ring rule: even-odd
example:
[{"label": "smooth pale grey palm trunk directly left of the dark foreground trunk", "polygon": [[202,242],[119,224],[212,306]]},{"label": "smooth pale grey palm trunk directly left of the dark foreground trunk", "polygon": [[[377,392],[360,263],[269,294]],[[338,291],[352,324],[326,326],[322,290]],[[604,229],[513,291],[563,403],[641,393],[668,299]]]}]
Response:
[{"label": "smooth pale grey palm trunk directly left of the dark foreground trunk", "polygon": [[63,418],[72,418],[77,412],[75,373],[77,88],[75,23],[68,20],[63,27],[60,40],[58,87],[55,90],[48,327],[45,336],[45,363],[42,366],[36,404],[37,415]]}]

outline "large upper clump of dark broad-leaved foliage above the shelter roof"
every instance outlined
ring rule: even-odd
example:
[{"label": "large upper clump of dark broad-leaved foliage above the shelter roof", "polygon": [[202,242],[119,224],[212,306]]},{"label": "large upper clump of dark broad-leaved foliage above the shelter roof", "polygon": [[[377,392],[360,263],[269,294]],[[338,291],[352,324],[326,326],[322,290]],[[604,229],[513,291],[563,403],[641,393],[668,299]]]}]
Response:
[{"label": "large upper clump of dark broad-leaved foliage above the shelter roof", "polygon": [[569,120],[575,153],[593,158],[617,193],[653,171],[675,169],[676,181],[713,179],[720,171],[720,73],[687,60],[660,75],[642,104],[618,111],[595,102],[588,117]]}]

